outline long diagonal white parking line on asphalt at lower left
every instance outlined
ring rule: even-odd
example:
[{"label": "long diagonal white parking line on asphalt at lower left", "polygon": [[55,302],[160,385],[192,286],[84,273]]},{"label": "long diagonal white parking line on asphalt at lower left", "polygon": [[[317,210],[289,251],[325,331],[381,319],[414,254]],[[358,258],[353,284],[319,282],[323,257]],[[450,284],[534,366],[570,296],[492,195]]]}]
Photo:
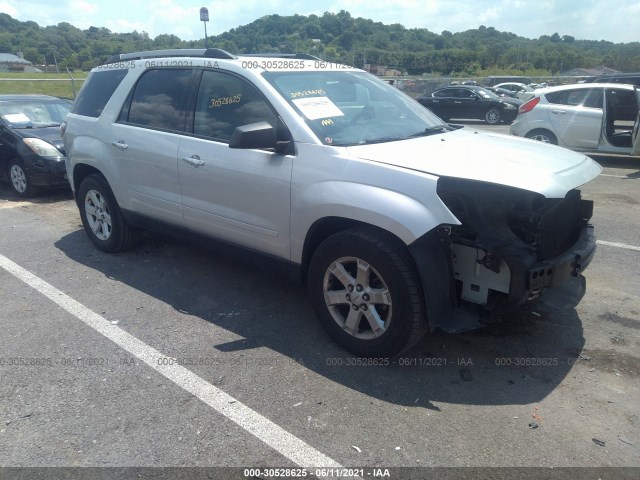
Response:
[{"label": "long diagonal white parking line on asphalt at lower left", "polygon": [[89,327],[137,357],[154,370],[191,393],[216,412],[237,423],[262,442],[301,467],[341,467],[341,465],[314,449],[295,435],[279,427],[219,388],[180,365],[160,365],[167,358],[158,350],[133,335],[112,325],[107,319],[85,307],[41,278],[0,255],[0,267],[40,292]]}]

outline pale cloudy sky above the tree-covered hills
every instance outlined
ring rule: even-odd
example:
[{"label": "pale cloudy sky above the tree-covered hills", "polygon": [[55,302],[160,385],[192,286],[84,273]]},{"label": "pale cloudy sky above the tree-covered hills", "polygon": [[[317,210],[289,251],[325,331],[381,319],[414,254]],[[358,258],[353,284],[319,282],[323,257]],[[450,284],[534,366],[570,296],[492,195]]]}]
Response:
[{"label": "pale cloudy sky above the tree-covered hills", "polygon": [[531,39],[559,33],[577,40],[640,41],[640,0],[0,0],[1,13],[41,27],[68,22],[80,29],[137,30],[183,40],[204,38],[200,7],[209,9],[209,36],[264,15],[346,10],[353,17],[438,34],[484,25]]}]

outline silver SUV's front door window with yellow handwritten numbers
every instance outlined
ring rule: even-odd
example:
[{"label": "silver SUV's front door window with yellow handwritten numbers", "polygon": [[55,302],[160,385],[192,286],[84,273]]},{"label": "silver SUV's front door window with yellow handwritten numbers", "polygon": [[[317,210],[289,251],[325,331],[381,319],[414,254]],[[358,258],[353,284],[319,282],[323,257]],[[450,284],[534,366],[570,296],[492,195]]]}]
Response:
[{"label": "silver SUV's front door window with yellow handwritten numbers", "polygon": [[193,133],[228,142],[236,127],[277,117],[258,90],[235,75],[206,70],[196,100]]}]

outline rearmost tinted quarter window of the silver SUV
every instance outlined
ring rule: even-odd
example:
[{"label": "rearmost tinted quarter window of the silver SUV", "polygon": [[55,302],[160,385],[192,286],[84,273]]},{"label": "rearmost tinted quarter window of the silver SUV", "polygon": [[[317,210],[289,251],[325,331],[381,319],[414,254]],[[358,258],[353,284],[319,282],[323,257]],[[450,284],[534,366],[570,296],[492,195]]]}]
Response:
[{"label": "rearmost tinted quarter window of the silver SUV", "polygon": [[89,74],[73,102],[71,113],[98,118],[128,70],[105,70]]}]

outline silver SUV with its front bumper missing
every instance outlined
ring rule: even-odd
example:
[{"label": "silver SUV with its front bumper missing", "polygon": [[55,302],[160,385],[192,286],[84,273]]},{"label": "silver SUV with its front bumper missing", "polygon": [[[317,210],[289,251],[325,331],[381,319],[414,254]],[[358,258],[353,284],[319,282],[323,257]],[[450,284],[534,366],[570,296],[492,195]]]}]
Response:
[{"label": "silver SUV with its front bumper missing", "polygon": [[585,292],[595,237],[576,187],[597,163],[447,125],[355,68],[217,49],[120,55],[92,70],[63,132],[96,247],[161,228],[258,258],[305,283],[357,355],[572,308]]}]

